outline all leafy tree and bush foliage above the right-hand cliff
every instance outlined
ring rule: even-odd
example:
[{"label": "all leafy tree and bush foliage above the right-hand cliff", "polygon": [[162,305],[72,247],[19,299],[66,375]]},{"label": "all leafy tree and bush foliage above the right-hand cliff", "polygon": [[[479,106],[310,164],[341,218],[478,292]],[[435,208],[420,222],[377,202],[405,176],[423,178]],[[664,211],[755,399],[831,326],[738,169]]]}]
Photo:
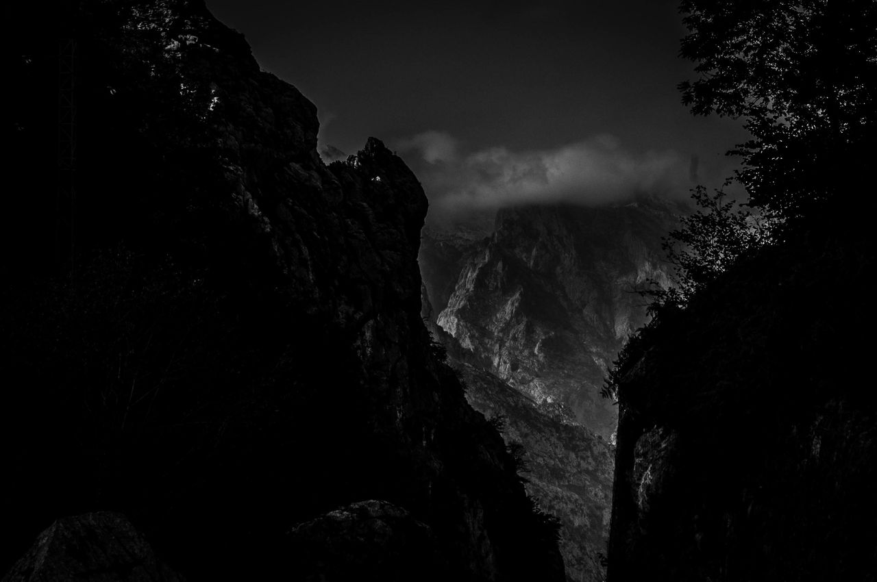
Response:
[{"label": "all leafy tree and bush foliage above the right-hand cliff", "polygon": [[[674,287],[653,284],[652,315],[684,306],[744,252],[860,192],[877,123],[877,4],[872,0],[683,0],[681,56],[700,78],[680,85],[696,115],[742,118],[752,139],[737,180],[749,200],[695,188],[695,214],[664,248]],[[727,183],[725,184],[728,185]],[[750,209],[755,209],[752,212]],[[654,283],[652,281],[652,283]]]}]

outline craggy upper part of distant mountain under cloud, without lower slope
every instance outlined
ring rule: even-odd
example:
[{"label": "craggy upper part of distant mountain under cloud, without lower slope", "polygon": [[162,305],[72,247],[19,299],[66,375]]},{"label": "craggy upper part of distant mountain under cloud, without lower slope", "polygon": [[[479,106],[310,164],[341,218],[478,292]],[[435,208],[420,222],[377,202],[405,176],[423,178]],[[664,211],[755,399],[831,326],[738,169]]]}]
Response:
[{"label": "craggy upper part of distant mountain under cloud, without lower slope", "polygon": [[636,293],[666,280],[660,238],[674,225],[657,202],[503,209],[438,323],[488,369],[536,401],[560,401],[609,438],[616,409],[603,378],[645,323]]}]

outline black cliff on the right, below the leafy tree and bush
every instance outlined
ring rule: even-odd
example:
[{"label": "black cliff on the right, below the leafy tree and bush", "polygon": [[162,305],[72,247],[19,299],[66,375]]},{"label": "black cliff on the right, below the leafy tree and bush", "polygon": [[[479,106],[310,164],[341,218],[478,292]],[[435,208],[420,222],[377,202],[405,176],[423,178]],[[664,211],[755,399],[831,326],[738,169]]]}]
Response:
[{"label": "black cliff on the right, below the leafy tree and bush", "polygon": [[875,579],[865,216],[819,216],[631,345],[612,582]]}]

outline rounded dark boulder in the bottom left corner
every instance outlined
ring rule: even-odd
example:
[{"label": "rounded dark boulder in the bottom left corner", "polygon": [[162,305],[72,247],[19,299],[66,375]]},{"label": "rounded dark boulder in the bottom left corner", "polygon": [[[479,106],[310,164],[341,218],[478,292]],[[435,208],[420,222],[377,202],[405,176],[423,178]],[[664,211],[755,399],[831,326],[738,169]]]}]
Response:
[{"label": "rounded dark boulder in the bottom left corner", "polygon": [[124,515],[66,517],[39,534],[4,582],[182,582]]}]

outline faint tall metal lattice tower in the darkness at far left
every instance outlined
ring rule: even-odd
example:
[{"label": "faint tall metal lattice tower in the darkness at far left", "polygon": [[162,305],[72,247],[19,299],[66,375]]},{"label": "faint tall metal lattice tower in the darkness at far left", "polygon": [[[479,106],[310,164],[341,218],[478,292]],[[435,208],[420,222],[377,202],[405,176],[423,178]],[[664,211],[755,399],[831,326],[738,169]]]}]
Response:
[{"label": "faint tall metal lattice tower in the darkness at far left", "polygon": [[76,216],[75,39],[58,41],[58,198],[55,259],[73,273]]}]

